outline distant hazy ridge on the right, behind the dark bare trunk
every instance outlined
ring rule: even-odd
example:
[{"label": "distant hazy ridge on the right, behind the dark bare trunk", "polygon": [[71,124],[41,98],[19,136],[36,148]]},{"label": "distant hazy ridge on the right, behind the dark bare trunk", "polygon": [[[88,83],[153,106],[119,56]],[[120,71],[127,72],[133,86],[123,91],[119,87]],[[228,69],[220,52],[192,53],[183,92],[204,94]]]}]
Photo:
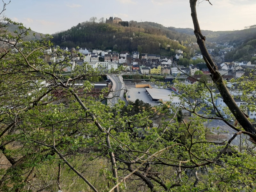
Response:
[{"label": "distant hazy ridge on the right, behind the dark bare trunk", "polygon": [[[194,29],[190,28],[175,28],[175,27],[168,27],[168,29],[185,33],[187,35],[193,35]],[[244,30],[237,30],[237,31],[209,31],[209,30],[202,30],[204,36],[206,36],[207,41],[210,42],[217,42],[219,44],[229,43],[229,44],[236,44],[241,45],[243,43],[247,43],[253,39],[256,39],[256,28],[251,29],[244,29]]]}]

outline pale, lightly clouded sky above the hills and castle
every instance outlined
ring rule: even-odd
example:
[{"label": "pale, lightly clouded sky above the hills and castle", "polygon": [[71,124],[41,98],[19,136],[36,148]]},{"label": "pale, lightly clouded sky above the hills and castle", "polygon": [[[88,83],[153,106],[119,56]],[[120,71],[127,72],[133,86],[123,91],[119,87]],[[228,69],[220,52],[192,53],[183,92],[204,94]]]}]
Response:
[{"label": "pale, lightly clouded sky above the hills and castle", "polygon": [[[4,0],[6,3],[7,0]],[[201,29],[241,30],[256,24],[256,0],[199,0]],[[3,3],[0,7],[2,9]],[[12,0],[6,17],[35,32],[53,34],[90,17],[120,17],[123,21],[151,21],[163,26],[193,28],[189,0]]]}]

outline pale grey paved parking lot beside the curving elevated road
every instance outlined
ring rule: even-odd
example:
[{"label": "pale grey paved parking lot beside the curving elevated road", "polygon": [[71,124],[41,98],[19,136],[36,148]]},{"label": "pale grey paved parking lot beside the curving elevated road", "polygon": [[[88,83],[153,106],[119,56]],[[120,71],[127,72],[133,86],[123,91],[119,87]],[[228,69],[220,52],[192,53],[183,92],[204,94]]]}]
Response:
[{"label": "pale grey paved parking lot beside the curving elevated road", "polygon": [[[131,100],[132,102],[135,102],[136,99],[140,99],[145,103],[149,103],[151,106],[158,105],[155,101],[152,101],[151,96],[148,96],[146,93],[146,89],[143,88],[135,88],[135,85],[127,86],[127,91],[126,96],[130,96],[130,98],[127,98]],[[139,93],[140,92],[140,93]]]}]

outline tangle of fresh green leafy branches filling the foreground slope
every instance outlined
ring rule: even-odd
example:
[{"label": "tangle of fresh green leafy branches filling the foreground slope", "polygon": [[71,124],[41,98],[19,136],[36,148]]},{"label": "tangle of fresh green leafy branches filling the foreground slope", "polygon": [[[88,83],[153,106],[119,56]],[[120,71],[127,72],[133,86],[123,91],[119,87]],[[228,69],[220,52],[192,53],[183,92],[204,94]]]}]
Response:
[{"label": "tangle of fresh green leafy branches filling the foreground slope", "polygon": [[[53,49],[49,35],[24,42],[29,29],[14,24],[16,36],[5,31],[0,39],[1,190],[255,190],[255,145],[244,138],[231,146],[237,136],[252,134],[230,125],[216,106],[217,116],[211,116],[209,108],[199,113],[205,104],[193,102],[211,95],[215,84],[177,84],[178,106],[170,95],[161,107],[139,100],[110,107],[101,102],[109,90],[91,96],[92,81],[119,71],[84,63],[63,73],[71,67],[70,52]],[[49,48],[58,58],[50,64]],[[187,111],[196,116],[183,117]],[[238,132],[228,141],[208,141],[203,118],[227,122]]]}]

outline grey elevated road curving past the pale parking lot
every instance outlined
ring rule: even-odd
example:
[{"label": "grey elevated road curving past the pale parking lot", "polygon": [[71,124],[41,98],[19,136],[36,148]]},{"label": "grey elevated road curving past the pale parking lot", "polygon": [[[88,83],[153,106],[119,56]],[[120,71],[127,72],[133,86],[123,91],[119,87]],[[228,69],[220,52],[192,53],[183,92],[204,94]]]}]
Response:
[{"label": "grey elevated road curving past the pale parking lot", "polygon": [[125,84],[122,80],[122,76],[120,75],[108,75],[108,79],[112,81],[112,89],[113,92],[109,94],[108,103],[113,106],[118,102],[118,99],[121,99],[122,101],[125,101],[127,105],[127,100],[124,98],[124,89]]}]

